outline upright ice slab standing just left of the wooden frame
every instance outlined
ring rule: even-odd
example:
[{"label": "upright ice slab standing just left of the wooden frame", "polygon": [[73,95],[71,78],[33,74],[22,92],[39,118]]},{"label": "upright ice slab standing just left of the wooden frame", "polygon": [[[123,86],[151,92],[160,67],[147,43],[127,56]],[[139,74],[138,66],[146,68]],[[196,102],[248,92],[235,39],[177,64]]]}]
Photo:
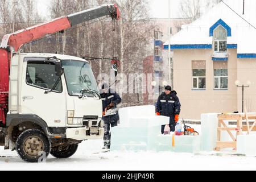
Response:
[{"label": "upright ice slab standing just left of the wooden frame", "polygon": [[201,150],[213,151],[217,141],[217,113],[201,114]]}]

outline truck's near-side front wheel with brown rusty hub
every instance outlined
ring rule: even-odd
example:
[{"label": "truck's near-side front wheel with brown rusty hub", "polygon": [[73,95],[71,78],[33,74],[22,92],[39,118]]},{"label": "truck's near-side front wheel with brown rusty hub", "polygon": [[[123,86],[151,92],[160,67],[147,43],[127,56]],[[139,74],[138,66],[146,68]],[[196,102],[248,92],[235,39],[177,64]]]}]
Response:
[{"label": "truck's near-side front wheel with brown rusty hub", "polygon": [[16,140],[16,151],[26,162],[37,163],[45,160],[51,150],[51,143],[40,130],[26,130]]}]

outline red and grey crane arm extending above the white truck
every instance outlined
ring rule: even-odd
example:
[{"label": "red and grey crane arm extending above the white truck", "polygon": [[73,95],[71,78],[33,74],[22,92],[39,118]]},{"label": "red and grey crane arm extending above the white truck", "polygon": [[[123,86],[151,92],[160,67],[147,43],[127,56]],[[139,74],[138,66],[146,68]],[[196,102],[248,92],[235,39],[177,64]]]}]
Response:
[{"label": "red and grey crane arm extending above the white truck", "polygon": [[65,30],[76,24],[100,18],[102,16],[110,16],[112,19],[119,19],[120,13],[117,5],[102,5],[92,9],[80,11],[79,13],[63,16],[53,19],[49,22],[38,24],[24,30],[19,30],[3,37],[2,48],[12,47],[14,51],[18,51],[23,44],[30,43],[40,39],[48,34],[54,34],[61,30]]}]

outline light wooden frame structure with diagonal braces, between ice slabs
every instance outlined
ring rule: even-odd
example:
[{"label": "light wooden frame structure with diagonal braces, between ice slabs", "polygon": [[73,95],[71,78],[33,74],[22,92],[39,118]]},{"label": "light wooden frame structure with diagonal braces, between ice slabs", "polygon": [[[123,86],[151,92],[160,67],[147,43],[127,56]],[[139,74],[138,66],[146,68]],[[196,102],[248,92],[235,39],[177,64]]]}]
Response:
[{"label": "light wooden frame structure with diagonal braces, between ice slabs", "polygon": [[[246,120],[246,125],[242,125],[242,120]],[[253,125],[249,125],[249,119],[254,119]],[[237,127],[228,127],[224,121],[236,121]],[[238,114],[218,114],[218,127],[217,127],[217,142],[216,151],[220,151],[220,148],[232,147],[234,150],[237,148],[237,135],[242,135],[242,131],[247,131],[250,134],[251,131],[256,131],[256,113],[238,113]],[[233,141],[224,142],[221,141],[221,131],[227,131]],[[234,136],[231,131],[236,131]]]}]

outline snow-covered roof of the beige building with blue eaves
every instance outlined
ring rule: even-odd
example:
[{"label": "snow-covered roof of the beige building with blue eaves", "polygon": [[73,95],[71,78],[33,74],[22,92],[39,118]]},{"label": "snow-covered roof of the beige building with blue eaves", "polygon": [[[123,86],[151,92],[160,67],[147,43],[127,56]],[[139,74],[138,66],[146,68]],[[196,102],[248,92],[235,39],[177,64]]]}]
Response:
[{"label": "snow-covered roof of the beige building with blue eaves", "polygon": [[[195,22],[182,26],[182,30],[171,37],[171,45],[176,46],[176,48],[182,48],[181,46],[187,46],[188,48],[188,45],[200,44],[201,47],[199,48],[212,48],[213,37],[210,36],[210,28],[222,20],[222,23],[224,22],[231,28],[231,36],[228,36],[227,40],[228,46],[232,47],[230,44],[233,44],[233,48],[237,48],[238,54],[255,54],[256,29],[254,27],[256,27],[256,1],[245,1],[244,15],[242,15],[243,0],[225,0],[224,2],[252,26],[223,2],[220,2]],[[164,43],[167,48],[168,44],[168,42]],[[237,46],[234,46],[234,44],[237,44]],[[202,45],[210,46],[205,47]]]}]

